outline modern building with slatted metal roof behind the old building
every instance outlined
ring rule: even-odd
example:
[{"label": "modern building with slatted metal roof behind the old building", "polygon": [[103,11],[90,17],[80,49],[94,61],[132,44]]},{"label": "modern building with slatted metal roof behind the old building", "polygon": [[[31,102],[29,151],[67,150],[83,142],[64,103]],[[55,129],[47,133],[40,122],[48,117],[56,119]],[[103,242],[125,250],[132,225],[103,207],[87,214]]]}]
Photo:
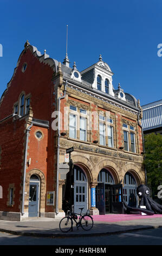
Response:
[{"label": "modern building with slatted metal roof behind the old building", "polygon": [[162,135],[162,100],[141,107],[143,112],[141,124],[144,134],[154,132]]}]

